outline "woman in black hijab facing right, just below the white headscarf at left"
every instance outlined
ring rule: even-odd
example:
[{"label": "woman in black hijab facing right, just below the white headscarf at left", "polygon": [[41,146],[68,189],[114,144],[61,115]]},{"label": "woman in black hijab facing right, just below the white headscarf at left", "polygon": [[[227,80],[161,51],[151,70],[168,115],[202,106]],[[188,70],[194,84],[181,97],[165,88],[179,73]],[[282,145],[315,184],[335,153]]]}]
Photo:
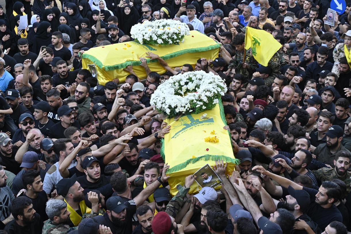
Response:
[{"label": "woman in black hijab facing right, just below the white headscarf at left", "polygon": [[39,54],[41,46],[48,46],[51,44],[51,25],[49,22],[43,21],[37,28],[33,43],[33,53]]}]

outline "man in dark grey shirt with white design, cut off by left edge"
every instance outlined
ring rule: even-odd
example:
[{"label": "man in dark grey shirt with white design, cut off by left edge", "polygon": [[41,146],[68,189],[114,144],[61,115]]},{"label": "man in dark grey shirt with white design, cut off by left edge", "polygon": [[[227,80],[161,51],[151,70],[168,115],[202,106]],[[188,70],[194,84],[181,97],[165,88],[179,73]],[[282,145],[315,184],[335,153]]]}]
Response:
[{"label": "man in dark grey shirt with white design, cut off by left edge", "polygon": [[[0,135],[0,142],[1,142],[1,135]],[[0,200],[4,201],[0,206],[0,221],[3,223],[3,224],[0,223],[1,229],[4,228],[4,225],[6,225],[11,220],[13,220],[13,217],[11,216],[11,213],[10,213],[10,207],[15,197],[13,196],[11,189],[6,185],[6,180],[7,180],[7,176],[5,174],[4,167],[0,165]]]}]

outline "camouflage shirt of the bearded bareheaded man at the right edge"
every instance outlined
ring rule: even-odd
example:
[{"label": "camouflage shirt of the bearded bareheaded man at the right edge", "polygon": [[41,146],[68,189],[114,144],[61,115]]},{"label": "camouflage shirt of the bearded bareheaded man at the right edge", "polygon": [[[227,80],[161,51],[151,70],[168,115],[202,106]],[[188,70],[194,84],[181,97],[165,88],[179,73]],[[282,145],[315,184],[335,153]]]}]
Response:
[{"label": "camouflage shirt of the bearded bareheaded man at the right edge", "polygon": [[320,168],[318,170],[313,170],[312,173],[314,176],[316,176],[316,179],[318,181],[318,184],[321,184],[324,181],[330,181],[332,179],[339,179],[345,182],[346,184],[346,191],[347,193],[350,193],[351,188],[350,188],[350,183],[351,183],[351,172],[347,171],[346,175],[343,177],[340,177],[336,171],[335,168]]}]

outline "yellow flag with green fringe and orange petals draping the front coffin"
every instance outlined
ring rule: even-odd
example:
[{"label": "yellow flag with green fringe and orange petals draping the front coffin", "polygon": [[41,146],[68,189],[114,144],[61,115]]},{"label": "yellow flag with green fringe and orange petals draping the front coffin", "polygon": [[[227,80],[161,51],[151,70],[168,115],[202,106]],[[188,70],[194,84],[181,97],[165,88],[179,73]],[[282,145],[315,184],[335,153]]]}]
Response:
[{"label": "yellow flag with green fringe and orange petals draping the front coffin", "polygon": [[[207,116],[201,118],[204,114]],[[231,174],[235,164],[239,163],[233,155],[230,134],[223,129],[227,123],[221,100],[212,110],[183,115],[178,120],[166,119],[165,122],[171,125],[171,130],[165,135],[161,156],[170,165],[167,175],[171,176],[168,183],[173,196],[178,192],[177,184],[184,184],[186,176],[204,165],[213,167],[216,160],[223,160],[228,163],[226,174]],[[200,189],[194,182],[189,193]]]}]

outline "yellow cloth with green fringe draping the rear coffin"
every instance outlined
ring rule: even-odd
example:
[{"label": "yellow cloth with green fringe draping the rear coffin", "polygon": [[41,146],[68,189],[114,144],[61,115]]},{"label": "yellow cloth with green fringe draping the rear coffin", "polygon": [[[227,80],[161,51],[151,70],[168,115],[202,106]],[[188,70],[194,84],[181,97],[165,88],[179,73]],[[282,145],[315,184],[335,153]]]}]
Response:
[{"label": "yellow cloth with green fringe draping the rear coffin", "polygon": [[[88,65],[95,64],[99,84],[104,85],[114,78],[124,82],[126,76],[130,74],[123,70],[127,65],[133,65],[133,70],[140,79],[146,78],[145,69],[141,66],[139,58],[146,58],[148,51],[158,54],[174,68],[186,63],[194,66],[200,58],[214,60],[218,57],[220,46],[206,35],[198,31],[190,31],[190,35],[185,36],[184,43],[179,44],[141,45],[137,41],[129,41],[91,48],[82,54],[82,66],[84,69],[89,69]],[[166,72],[156,59],[146,58],[146,60],[151,71],[160,74]]]}]

